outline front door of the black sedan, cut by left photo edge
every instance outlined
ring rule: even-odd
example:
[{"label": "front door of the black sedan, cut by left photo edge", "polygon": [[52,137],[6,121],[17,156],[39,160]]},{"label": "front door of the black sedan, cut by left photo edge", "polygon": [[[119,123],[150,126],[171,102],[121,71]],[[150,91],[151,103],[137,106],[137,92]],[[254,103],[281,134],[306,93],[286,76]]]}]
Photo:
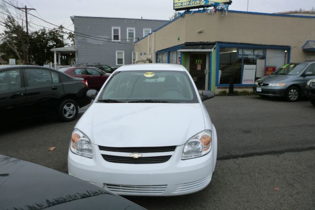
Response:
[{"label": "front door of the black sedan, cut by left photo edge", "polygon": [[20,69],[0,71],[0,123],[27,116],[26,90]]}]

